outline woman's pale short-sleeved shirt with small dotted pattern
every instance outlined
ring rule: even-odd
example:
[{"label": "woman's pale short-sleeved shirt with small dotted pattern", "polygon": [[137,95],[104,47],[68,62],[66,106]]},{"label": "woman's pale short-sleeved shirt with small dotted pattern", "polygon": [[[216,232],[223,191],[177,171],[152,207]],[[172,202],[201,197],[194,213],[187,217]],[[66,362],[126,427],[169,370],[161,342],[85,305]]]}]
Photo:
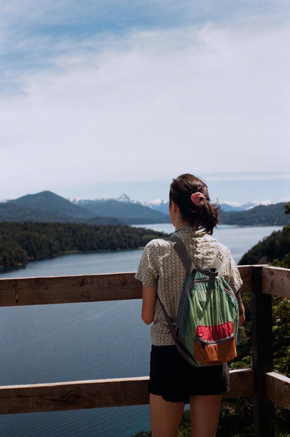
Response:
[{"label": "woman's pale short-sleeved shirt with small dotted pattern", "polygon": [[[173,235],[182,239],[196,267],[210,270],[218,248],[216,239],[191,226],[182,226],[176,229]],[[236,294],[241,314],[241,299],[238,290],[242,280],[238,267],[227,247],[224,253],[221,276]],[[187,274],[171,244],[163,239],[150,241],[144,249],[135,277],[145,287],[157,288],[158,296],[163,302],[168,316],[172,322],[175,322]],[[150,327],[150,334],[152,344],[155,346],[175,344],[158,301],[155,306],[154,323]]]}]

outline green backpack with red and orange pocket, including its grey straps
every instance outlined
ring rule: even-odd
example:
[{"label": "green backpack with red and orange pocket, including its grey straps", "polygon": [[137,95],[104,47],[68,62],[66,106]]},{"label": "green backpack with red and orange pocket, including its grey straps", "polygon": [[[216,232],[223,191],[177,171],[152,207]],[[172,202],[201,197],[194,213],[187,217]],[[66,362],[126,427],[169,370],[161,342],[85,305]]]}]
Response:
[{"label": "green backpack with red and orange pocket, including its grey straps", "polygon": [[178,351],[196,367],[224,364],[237,356],[239,310],[234,291],[219,272],[225,247],[219,243],[210,270],[197,268],[177,236],[165,238],[188,274],[182,289],[175,325],[158,301]]}]

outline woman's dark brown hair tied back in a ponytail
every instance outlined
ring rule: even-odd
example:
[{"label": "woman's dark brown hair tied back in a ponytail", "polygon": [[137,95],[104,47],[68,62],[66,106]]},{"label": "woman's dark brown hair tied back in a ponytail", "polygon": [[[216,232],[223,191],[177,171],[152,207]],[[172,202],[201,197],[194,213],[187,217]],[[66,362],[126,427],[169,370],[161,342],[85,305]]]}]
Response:
[{"label": "woman's dark brown hair tied back in a ponytail", "polygon": [[[205,199],[200,199],[199,205],[195,205],[191,200],[192,193],[197,192],[205,196]],[[210,203],[209,192],[203,179],[189,173],[173,179],[170,185],[169,203],[172,200],[178,205],[184,220],[212,235],[213,228],[219,224],[220,205]]]}]

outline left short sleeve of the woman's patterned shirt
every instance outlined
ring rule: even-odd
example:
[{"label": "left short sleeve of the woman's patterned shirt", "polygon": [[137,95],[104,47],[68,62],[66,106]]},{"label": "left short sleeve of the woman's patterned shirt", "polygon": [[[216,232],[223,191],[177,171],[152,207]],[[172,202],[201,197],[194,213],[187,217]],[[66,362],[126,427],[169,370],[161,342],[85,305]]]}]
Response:
[{"label": "left short sleeve of the woman's patterned shirt", "polygon": [[157,267],[158,255],[154,246],[154,240],[150,241],[145,247],[140,264],[135,275],[144,287],[157,288],[159,269]]}]

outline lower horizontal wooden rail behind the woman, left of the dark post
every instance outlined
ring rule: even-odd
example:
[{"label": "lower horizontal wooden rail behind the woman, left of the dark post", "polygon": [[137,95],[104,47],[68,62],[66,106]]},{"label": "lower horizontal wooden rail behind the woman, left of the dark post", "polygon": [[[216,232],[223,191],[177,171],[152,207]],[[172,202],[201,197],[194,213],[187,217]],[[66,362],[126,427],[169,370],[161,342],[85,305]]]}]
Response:
[{"label": "lower horizontal wooden rail behind the woman, left of the dark post", "polygon": [[[37,413],[149,403],[148,377],[99,379],[0,387],[0,414]],[[254,371],[230,371],[231,391],[224,397],[254,393]]]}]

